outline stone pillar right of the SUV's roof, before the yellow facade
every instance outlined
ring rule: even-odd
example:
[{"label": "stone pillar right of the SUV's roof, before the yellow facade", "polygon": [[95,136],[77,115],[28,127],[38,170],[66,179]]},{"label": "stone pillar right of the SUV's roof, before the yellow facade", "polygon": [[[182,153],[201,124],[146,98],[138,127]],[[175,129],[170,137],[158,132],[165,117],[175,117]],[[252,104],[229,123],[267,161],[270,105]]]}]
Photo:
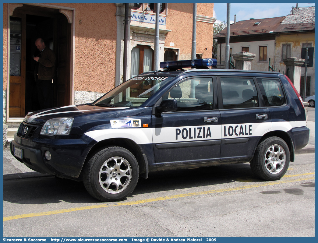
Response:
[{"label": "stone pillar right of the SUV's roof, before the yellow facade", "polygon": [[285,75],[293,82],[298,93],[300,92],[300,77],[301,77],[301,65],[305,63],[304,59],[297,57],[290,57],[283,59],[286,65]]}]

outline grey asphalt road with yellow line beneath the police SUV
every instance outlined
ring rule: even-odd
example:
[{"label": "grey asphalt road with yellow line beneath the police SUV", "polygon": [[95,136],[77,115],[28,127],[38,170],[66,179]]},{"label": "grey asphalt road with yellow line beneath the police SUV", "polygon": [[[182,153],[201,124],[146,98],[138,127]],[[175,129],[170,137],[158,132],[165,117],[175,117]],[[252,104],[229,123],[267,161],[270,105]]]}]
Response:
[{"label": "grey asphalt road with yellow line beneath the police SUV", "polygon": [[118,203],[71,180],[4,180],[3,220],[4,237],[315,236],[315,154],[274,182],[248,163],[154,173]]}]

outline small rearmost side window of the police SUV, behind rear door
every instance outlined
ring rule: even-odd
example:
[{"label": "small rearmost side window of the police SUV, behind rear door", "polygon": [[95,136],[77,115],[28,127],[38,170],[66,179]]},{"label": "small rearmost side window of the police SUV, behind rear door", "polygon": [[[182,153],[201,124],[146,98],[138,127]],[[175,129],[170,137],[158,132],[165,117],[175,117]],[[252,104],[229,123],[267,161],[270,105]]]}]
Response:
[{"label": "small rearmost side window of the police SUV, behind rear door", "polygon": [[285,103],[284,93],[279,80],[261,78],[257,80],[266,106],[281,106]]}]

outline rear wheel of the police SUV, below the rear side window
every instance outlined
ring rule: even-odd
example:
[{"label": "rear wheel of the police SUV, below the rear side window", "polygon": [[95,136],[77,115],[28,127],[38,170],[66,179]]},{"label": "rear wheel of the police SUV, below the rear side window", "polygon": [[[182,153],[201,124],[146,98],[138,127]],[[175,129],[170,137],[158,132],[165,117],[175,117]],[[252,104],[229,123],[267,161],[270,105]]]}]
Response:
[{"label": "rear wheel of the police SUV, below the rear side window", "polygon": [[280,137],[269,137],[257,146],[250,164],[255,175],[267,181],[274,181],[285,175],[289,159],[286,142]]}]

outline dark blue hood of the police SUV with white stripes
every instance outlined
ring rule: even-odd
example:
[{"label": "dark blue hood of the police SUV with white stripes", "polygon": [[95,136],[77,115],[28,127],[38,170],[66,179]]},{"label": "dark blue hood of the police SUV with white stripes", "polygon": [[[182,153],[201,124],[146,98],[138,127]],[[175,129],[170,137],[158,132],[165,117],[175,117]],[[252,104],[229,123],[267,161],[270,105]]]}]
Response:
[{"label": "dark blue hood of the police SUV with white stripes", "polygon": [[56,117],[77,117],[107,111],[127,109],[129,107],[100,107],[91,105],[71,105],[48,110],[40,110],[25,116],[24,121],[30,124],[43,125],[47,120]]}]

